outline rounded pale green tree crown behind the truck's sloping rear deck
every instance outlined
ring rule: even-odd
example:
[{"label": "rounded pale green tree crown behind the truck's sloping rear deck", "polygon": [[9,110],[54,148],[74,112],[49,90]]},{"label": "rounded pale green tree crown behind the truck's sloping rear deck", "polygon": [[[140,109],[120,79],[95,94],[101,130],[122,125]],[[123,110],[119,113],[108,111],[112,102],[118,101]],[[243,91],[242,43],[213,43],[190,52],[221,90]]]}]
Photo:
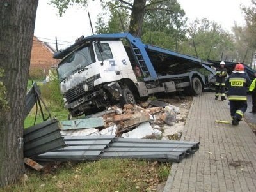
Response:
[{"label": "rounded pale green tree crown behind the truck's sloping rear deck", "polygon": [[198,57],[203,60],[221,60],[222,53],[227,54],[232,50],[234,50],[234,37],[219,24],[206,18],[191,22],[188,39],[179,45],[180,52],[194,56],[197,52]]}]

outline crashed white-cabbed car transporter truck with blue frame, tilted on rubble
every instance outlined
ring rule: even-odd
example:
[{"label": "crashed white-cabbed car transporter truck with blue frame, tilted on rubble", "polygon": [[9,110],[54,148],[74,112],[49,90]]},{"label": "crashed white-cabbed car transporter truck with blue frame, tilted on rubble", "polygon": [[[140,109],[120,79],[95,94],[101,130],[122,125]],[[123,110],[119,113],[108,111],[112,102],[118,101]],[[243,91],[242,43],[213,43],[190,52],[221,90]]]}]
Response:
[{"label": "crashed white-cabbed car transporter truck with blue frame, tilted on rubble", "polygon": [[157,93],[201,94],[214,78],[211,63],[146,45],[129,33],[81,36],[56,52],[60,90],[72,117]]}]

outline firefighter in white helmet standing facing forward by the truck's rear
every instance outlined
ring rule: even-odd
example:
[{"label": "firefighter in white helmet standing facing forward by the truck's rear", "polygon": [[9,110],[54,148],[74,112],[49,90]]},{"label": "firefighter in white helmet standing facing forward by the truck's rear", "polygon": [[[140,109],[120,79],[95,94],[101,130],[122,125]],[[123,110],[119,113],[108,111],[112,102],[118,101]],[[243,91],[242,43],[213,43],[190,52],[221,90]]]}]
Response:
[{"label": "firefighter in white helmet standing facing forward by the truck's rear", "polygon": [[221,93],[221,101],[225,101],[225,77],[227,77],[227,69],[225,62],[221,61],[220,67],[216,69],[216,83],[215,83],[215,100],[218,100],[219,92]]}]

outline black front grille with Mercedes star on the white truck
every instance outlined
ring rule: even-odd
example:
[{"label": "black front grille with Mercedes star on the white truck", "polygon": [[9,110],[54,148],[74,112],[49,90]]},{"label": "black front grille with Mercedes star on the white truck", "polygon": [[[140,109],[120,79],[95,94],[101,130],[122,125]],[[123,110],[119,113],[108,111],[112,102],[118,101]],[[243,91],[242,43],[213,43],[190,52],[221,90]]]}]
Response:
[{"label": "black front grille with Mercedes star on the white truck", "polygon": [[87,84],[88,85],[88,91],[91,91],[93,89],[93,83],[97,78],[100,78],[100,74],[97,74],[93,77],[90,77],[87,80],[85,80],[84,82],[81,82],[81,84],[76,85],[76,87],[74,87],[73,89],[68,90],[64,94],[68,103],[70,103],[72,101],[76,101],[77,99],[84,96],[84,94],[86,94],[86,92],[84,91],[84,87],[83,87],[84,84]]}]

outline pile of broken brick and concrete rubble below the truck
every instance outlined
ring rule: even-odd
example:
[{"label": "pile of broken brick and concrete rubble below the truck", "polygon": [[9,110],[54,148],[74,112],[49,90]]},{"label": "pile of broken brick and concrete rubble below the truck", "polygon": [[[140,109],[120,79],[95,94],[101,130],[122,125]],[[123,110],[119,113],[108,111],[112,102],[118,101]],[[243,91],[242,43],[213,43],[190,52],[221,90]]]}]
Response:
[{"label": "pile of broken brick and concrete rubble below the truck", "polygon": [[140,105],[113,106],[85,119],[60,121],[61,135],[115,135],[124,138],[179,140],[191,100],[148,100]]}]

